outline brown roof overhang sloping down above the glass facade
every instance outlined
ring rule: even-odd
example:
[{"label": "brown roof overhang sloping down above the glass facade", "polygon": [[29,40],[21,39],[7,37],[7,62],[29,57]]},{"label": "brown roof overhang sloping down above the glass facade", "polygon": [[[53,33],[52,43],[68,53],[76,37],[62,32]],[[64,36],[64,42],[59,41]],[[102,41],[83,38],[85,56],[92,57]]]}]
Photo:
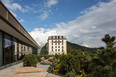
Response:
[{"label": "brown roof overhang sloping down above the glass facade", "polygon": [[11,14],[11,12],[0,1],[0,30],[16,37],[17,39],[27,43],[35,48],[40,46],[30,36],[30,34],[23,28],[18,20]]}]

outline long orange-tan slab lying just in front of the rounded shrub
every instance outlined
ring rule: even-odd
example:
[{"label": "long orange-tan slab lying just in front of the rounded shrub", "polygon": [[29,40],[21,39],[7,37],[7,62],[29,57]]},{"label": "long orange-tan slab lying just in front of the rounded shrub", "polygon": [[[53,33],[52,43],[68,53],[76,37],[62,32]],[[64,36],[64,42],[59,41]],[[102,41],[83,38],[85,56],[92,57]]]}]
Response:
[{"label": "long orange-tan slab lying just in front of the rounded shrub", "polygon": [[42,72],[43,69],[36,68],[36,67],[22,67],[18,70],[15,70],[15,73],[27,73],[27,72]]}]

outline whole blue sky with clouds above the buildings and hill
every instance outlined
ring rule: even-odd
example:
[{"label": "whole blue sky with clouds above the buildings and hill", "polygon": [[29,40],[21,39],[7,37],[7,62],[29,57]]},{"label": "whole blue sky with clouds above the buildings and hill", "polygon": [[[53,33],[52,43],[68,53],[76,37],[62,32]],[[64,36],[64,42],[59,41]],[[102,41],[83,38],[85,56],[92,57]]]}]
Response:
[{"label": "whole blue sky with clouds above the buildings and hill", "polygon": [[48,36],[66,36],[86,47],[105,47],[105,34],[116,36],[116,0],[2,0],[42,47]]}]

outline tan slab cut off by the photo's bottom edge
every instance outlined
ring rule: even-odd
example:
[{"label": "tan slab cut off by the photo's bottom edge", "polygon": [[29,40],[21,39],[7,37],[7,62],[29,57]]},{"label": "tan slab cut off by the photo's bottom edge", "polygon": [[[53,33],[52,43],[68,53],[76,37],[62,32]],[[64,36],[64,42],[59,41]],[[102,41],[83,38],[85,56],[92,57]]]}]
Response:
[{"label": "tan slab cut off by the photo's bottom edge", "polygon": [[4,75],[3,77],[46,77],[48,72],[40,72],[40,73],[28,73],[28,74],[12,74],[12,75]]}]

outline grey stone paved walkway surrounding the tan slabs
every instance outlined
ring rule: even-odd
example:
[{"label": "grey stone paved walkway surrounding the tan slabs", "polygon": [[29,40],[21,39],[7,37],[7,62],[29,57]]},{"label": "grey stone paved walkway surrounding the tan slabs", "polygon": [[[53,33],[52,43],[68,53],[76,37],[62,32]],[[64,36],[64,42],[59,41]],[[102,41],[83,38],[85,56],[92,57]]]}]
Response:
[{"label": "grey stone paved walkway surrounding the tan slabs", "polygon": [[[1,69],[0,70],[0,77],[2,77],[3,75],[15,74],[14,71],[17,70],[17,69],[19,69],[19,68],[21,68],[21,67],[23,67],[23,63],[19,63],[19,64],[16,64],[14,66],[10,66],[10,67]],[[49,68],[49,65],[42,65],[42,64],[38,63],[37,64],[37,68],[44,69],[43,72],[47,72],[47,70]],[[57,75],[48,73],[47,77],[61,77],[61,76],[57,76]]]}]

